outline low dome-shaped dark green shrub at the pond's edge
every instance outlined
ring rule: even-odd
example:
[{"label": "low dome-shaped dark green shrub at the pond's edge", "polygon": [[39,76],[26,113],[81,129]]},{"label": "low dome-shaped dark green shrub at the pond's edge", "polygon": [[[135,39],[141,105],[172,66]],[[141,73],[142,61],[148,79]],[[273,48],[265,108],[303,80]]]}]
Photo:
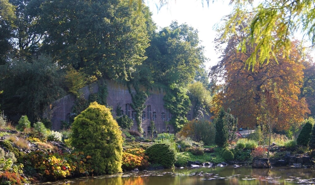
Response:
[{"label": "low dome-shaped dark green shrub at the pond's edge", "polygon": [[175,150],[166,143],[155,143],[146,149],[149,162],[163,165],[164,168],[173,167],[175,164]]}]

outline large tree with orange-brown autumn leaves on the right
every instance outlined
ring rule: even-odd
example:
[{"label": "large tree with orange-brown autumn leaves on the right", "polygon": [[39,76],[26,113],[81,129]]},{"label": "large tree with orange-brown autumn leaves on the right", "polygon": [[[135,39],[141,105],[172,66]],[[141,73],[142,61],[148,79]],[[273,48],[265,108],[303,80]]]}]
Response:
[{"label": "large tree with orange-brown autumn leaves on the right", "polygon": [[[221,61],[213,66],[209,76],[214,81],[223,79],[224,85],[214,97],[216,106],[212,107],[214,113],[218,108],[229,107],[231,114],[238,118],[240,127],[255,128],[257,117],[261,114],[261,97],[263,87],[269,80],[277,84],[279,93],[279,110],[277,130],[286,130],[290,124],[300,123],[309,112],[305,98],[300,97],[300,89],[303,83],[303,58],[298,49],[299,42],[292,42],[292,50],[289,58],[275,53],[278,59],[265,64],[257,64],[248,69],[245,61],[253,52],[250,45],[246,47],[246,53],[238,48],[238,43],[246,38],[240,26],[237,35],[231,35],[226,43],[226,48],[221,48]],[[220,42],[220,43],[219,43]],[[217,40],[221,44],[221,40]],[[257,57],[258,58],[258,57]]]}]

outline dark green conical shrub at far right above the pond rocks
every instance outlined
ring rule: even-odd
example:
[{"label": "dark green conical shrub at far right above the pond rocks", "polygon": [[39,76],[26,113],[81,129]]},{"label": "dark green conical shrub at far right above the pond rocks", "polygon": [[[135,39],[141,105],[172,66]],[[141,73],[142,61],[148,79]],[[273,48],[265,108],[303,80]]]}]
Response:
[{"label": "dark green conical shrub at far right above the pond rocks", "polygon": [[309,117],[304,121],[304,126],[302,127],[302,130],[299,134],[299,136],[296,138],[296,142],[298,145],[307,146],[312,132],[312,127],[315,124],[315,120],[312,117]]}]

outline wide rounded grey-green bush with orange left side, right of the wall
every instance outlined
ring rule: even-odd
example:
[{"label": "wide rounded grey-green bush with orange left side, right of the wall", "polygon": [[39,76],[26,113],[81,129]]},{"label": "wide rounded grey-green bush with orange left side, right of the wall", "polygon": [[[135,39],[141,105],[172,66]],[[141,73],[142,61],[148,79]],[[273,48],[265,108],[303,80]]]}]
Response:
[{"label": "wide rounded grey-green bush with orange left side, right of the wall", "polygon": [[207,120],[192,120],[183,126],[178,136],[189,137],[193,141],[203,141],[206,145],[211,145],[215,142],[215,126]]}]

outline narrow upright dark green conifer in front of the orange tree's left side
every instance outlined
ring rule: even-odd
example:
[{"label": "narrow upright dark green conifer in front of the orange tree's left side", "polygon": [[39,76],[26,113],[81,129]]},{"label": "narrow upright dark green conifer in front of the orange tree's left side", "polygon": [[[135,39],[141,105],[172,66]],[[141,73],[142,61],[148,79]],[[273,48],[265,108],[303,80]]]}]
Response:
[{"label": "narrow upright dark green conifer in front of the orange tree's left side", "polygon": [[227,144],[229,132],[225,121],[225,111],[223,107],[220,109],[218,117],[214,120],[215,123],[215,143],[219,147],[224,147]]}]

